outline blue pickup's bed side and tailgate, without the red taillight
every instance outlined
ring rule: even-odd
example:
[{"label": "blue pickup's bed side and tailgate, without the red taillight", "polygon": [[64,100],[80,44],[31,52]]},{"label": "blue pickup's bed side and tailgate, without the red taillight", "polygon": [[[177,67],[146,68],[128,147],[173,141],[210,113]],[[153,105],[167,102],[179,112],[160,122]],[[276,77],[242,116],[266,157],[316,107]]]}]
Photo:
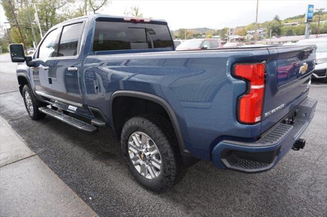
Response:
[{"label": "blue pickup's bed side and tailgate, without the red taillight", "polygon": [[[166,100],[177,115],[186,149],[192,155],[210,159],[217,141],[255,141],[308,96],[314,67],[313,46],[210,49],[128,53],[99,51],[86,57],[83,68],[85,104],[101,104],[106,111],[111,94],[118,90],[150,93]],[[291,60],[291,61],[289,61]],[[289,80],[278,84],[277,70],[289,62]],[[306,73],[299,75],[302,62]],[[237,99],[246,82],[232,76],[235,63],[266,64],[266,88],[262,123],[242,124],[237,120]],[[293,73],[293,74],[292,74]],[[99,90],[94,90],[94,83]]]}]

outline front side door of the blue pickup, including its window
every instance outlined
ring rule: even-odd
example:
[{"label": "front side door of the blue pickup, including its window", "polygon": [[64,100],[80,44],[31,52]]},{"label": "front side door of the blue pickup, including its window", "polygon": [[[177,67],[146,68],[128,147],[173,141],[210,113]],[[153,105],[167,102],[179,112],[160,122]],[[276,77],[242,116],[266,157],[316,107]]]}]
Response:
[{"label": "front side door of the blue pickup, including its window", "polygon": [[32,68],[32,85],[36,94],[44,97],[53,96],[49,73],[55,64],[57,56],[58,41],[61,28],[49,32],[42,41],[37,53],[35,53],[35,67]]}]

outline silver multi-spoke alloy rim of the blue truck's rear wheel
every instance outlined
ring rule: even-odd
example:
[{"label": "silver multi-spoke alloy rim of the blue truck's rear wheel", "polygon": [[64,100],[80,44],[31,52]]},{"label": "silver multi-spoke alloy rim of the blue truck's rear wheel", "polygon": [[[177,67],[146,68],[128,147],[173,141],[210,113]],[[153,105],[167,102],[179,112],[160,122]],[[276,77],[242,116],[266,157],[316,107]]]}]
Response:
[{"label": "silver multi-spoke alloy rim of the blue truck's rear wheel", "polygon": [[133,132],[128,139],[128,156],[139,174],[154,179],[161,171],[160,152],[153,140],[144,132]]}]

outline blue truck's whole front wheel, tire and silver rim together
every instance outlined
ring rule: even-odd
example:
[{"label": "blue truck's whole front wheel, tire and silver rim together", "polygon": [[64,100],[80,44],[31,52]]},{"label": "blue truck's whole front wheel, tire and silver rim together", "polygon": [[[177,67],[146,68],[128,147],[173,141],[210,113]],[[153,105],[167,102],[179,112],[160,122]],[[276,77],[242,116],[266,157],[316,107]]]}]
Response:
[{"label": "blue truck's whole front wheel, tire and silver rim together", "polygon": [[37,99],[35,99],[32,91],[28,85],[25,85],[24,88],[22,88],[22,97],[24,99],[26,111],[33,120],[37,120],[37,119],[45,117],[45,114],[41,113],[38,110],[38,106],[36,103]]}]

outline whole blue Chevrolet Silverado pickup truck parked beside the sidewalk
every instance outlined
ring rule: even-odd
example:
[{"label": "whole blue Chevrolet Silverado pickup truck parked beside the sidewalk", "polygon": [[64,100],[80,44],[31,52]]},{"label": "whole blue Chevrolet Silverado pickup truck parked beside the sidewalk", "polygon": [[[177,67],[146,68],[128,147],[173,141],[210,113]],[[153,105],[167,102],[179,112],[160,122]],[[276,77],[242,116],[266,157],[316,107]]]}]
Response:
[{"label": "whole blue Chevrolet Silverado pickup truck parked beside the sidewalk", "polygon": [[29,116],[113,128],[135,179],[164,192],[198,159],[272,169],[313,118],[315,46],[175,51],[164,20],[84,16],[51,28],[33,56],[11,44]]}]

